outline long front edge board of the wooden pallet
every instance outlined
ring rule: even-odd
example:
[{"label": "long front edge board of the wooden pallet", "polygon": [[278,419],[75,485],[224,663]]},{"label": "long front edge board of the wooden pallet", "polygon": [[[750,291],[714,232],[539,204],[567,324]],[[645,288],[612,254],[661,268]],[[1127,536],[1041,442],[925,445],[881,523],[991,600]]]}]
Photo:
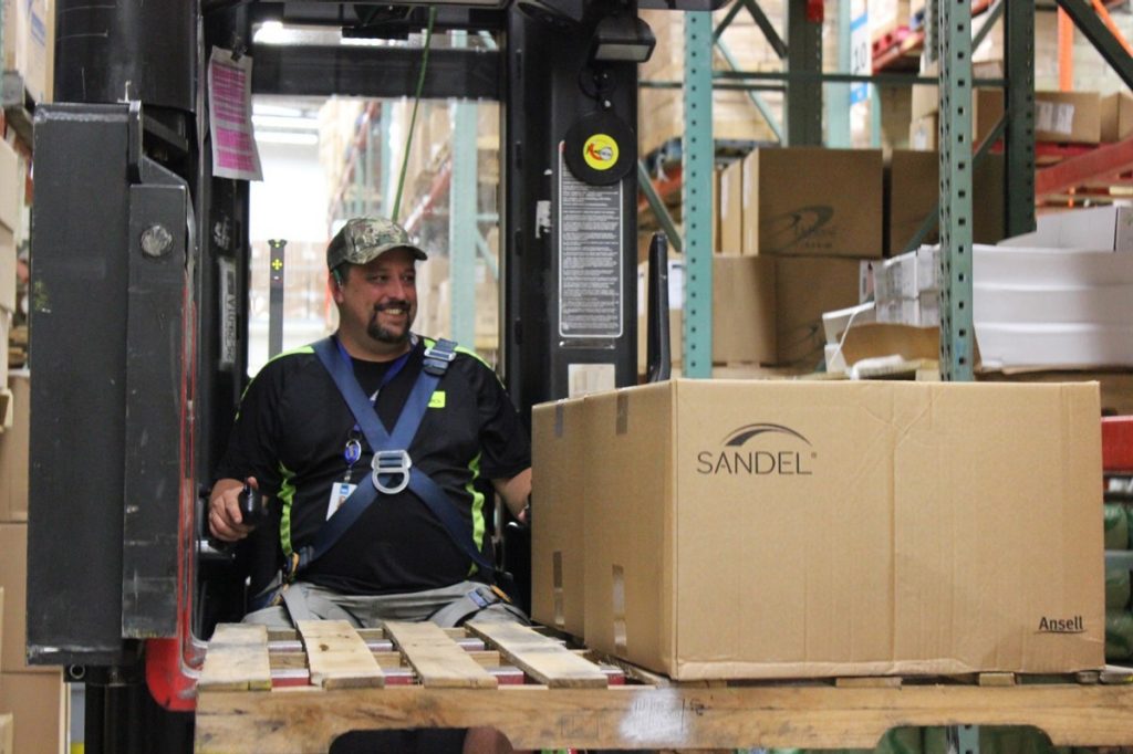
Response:
[{"label": "long front edge board of the wooden pallet", "polygon": [[896,726],[1033,726],[1055,746],[1133,746],[1133,685],[901,688],[421,686],[203,693],[196,751],[326,752],[350,730],[491,726],[516,748],[872,748]]}]

